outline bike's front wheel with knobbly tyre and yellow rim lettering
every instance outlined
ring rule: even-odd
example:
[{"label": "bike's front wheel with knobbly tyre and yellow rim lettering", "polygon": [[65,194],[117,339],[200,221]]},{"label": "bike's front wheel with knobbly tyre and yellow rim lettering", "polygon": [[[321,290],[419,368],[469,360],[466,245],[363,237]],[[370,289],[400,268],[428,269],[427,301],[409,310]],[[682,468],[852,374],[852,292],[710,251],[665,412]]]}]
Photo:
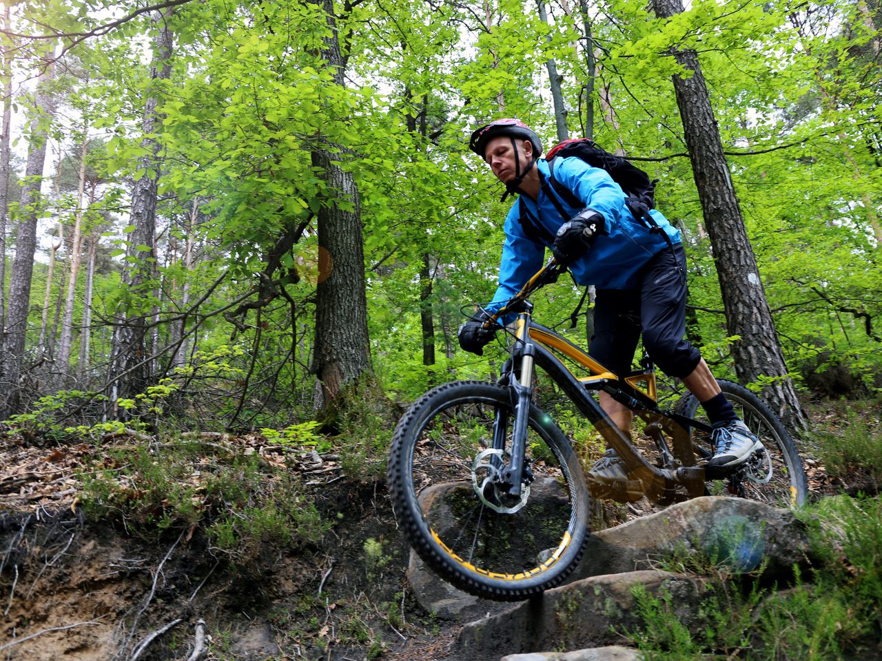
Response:
[{"label": "bike's front wheel with knobbly tyre and yellow rim lettering", "polygon": [[526,599],[562,583],[587,543],[589,498],[579,460],[533,405],[521,494],[500,487],[513,422],[511,390],[446,383],[400,420],[388,467],[395,515],[416,553],[461,590],[497,600]]}]

